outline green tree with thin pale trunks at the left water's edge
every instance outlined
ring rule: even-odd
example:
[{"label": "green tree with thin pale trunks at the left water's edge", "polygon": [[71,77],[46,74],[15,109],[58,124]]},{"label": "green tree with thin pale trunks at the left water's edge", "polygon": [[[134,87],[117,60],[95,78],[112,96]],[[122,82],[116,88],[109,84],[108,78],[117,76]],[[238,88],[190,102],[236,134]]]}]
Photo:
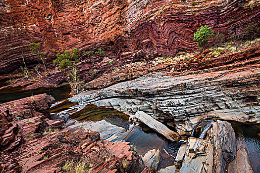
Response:
[{"label": "green tree with thin pale trunks at the left water's edge", "polygon": [[58,70],[64,70],[69,68],[67,73],[67,81],[72,90],[76,90],[79,93],[80,78],[78,76],[77,63],[79,62],[79,50],[74,48],[71,52],[65,50],[64,53],[57,53],[57,58],[53,60],[54,64],[58,64]]}]

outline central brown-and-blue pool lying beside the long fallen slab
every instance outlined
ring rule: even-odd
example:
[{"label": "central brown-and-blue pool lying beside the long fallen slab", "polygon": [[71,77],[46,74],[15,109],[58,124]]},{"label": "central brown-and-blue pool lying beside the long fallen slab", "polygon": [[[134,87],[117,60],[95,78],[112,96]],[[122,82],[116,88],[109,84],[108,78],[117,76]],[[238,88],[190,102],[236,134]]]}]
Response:
[{"label": "central brown-and-blue pool lying beside the long fallen slab", "polygon": [[[105,120],[113,125],[128,129],[129,116],[114,109],[97,107],[95,105],[87,105],[81,111],[75,113],[71,118],[78,121],[101,121]],[[160,159],[158,169],[171,166],[174,163],[174,158],[168,155],[163,148],[171,155],[177,155],[181,143],[174,143],[160,135],[156,131],[150,129],[148,126],[139,123],[139,126],[134,127],[131,133],[124,139],[134,145],[137,152],[145,155],[149,150],[154,148],[160,150]]]}]

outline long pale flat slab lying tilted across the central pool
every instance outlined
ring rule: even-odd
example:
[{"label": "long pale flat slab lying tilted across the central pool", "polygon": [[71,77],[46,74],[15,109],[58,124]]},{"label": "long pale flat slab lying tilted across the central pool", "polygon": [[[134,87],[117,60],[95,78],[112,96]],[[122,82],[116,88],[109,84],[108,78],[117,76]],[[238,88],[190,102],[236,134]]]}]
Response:
[{"label": "long pale flat slab lying tilted across the central pool", "polygon": [[140,120],[141,122],[143,122],[144,124],[149,126],[151,129],[156,130],[158,133],[162,134],[163,136],[170,139],[171,141],[180,140],[180,136],[178,133],[176,133],[172,130],[169,130],[165,125],[156,121],[153,117],[151,117],[150,115],[148,115],[142,111],[138,111],[135,115],[131,115],[130,119],[131,118],[132,119],[137,118],[138,120]]}]

